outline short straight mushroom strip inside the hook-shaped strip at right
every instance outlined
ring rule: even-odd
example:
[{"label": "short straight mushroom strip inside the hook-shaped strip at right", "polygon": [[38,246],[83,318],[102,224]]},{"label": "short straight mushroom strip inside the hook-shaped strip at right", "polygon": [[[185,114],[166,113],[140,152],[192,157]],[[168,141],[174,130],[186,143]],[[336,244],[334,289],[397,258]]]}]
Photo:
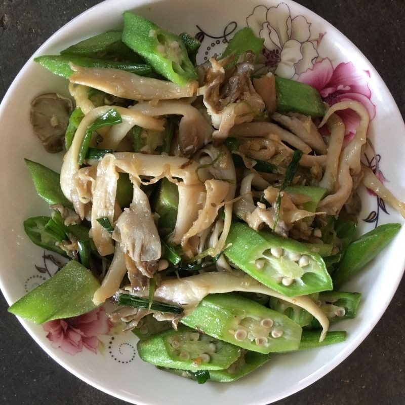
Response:
[{"label": "short straight mushroom strip inside the hook-shaped strip at right", "polygon": [[338,178],[339,156],[342,151],[345,126],[337,114],[330,116],[327,126],[331,131],[328,145],[328,157],[326,160],[325,173],[319,182],[319,187],[326,188],[329,192],[335,191],[335,183]]}]

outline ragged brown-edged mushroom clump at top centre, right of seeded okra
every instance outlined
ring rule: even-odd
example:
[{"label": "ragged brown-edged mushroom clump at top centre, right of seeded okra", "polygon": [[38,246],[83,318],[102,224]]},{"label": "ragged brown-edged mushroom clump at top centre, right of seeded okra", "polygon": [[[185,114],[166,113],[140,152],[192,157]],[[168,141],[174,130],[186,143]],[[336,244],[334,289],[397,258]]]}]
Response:
[{"label": "ragged brown-edged mushroom clump at top centre, right of seeded okra", "polygon": [[233,75],[226,80],[224,66],[229,63],[229,59],[217,61],[211,58],[210,62],[205,86],[198,90],[198,94],[204,95],[204,105],[217,129],[213,138],[219,142],[228,137],[234,125],[252,121],[263,112],[265,106],[251,82],[250,76],[254,69],[252,63],[237,63]]}]

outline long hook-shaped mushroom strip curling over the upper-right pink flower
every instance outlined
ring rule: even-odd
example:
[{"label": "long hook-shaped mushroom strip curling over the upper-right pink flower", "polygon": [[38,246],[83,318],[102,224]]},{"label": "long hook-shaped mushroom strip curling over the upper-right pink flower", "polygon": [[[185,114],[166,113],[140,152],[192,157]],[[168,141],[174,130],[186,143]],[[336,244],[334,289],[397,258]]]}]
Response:
[{"label": "long hook-shaped mushroom strip curling over the upper-right pink flower", "polygon": [[352,176],[359,175],[361,171],[361,147],[366,143],[370,118],[366,108],[359,102],[342,101],[328,110],[319,125],[324,125],[334,112],[347,108],[352,109],[360,116],[360,122],[356,129],[356,135],[341,152],[336,192],[323,198],[318,205],[319,209],[326,211],[329,215],[338,214],[352,193]]}]

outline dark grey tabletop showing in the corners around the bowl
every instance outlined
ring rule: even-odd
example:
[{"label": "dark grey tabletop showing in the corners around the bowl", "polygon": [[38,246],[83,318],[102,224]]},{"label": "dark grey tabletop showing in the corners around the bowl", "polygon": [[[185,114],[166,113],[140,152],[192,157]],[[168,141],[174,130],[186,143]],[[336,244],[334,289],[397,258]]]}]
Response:
[{"label": "dark grey tabletop showing in the corners around the bowl", "polygon": [[[39,45],[71,18],[97,3],[97,0],[0,0],[0,99]],[[405,0],[299,0],[298,3],[328,20],[357,45],[381,74],[405,116]],[[374,331],[338,368],[277,405],[405,404],[404,291],[402,280]],[[17,319],[8,314],[1,294],[0,311],[1,403],[125,403],[57,365]],[[192,404],[192,399],[185,398],[184,403]]]}]

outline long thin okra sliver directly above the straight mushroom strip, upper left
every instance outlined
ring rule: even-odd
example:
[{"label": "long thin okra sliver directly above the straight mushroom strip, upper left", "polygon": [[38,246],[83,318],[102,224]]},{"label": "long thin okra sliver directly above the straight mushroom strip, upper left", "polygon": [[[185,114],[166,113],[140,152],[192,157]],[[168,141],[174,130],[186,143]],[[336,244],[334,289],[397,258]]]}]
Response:
[{"label": "long thin okra sliver directly above the straight mushroom strip, upper left", "polygon": [[127,72],[138,74],[139,76],[151,76],[153,71],[146,63],[128,63],[115,62],[110,60],[87,58],[78,55],[44,55],[34,59],[35,62],[44,66],[52,73],[69,78],[74,71],[70,67],[70,63],[82,67],[97,67],[104,69],[120,69]]}]

